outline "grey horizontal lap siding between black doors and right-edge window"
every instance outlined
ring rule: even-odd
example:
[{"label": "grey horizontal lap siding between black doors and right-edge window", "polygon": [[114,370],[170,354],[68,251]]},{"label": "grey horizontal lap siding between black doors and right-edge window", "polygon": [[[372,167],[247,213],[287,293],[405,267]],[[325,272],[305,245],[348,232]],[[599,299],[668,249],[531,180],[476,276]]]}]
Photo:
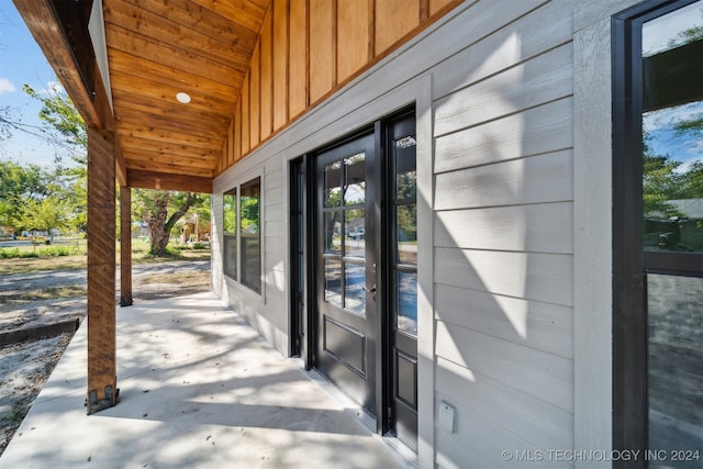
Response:
[{"label": "grey horizontal lap siding between black doors and right-edge window", "polygon": [[433,69],[435,392],[458,409],[455,434],[436,427],[445,467],[573,447],[571,2],[502,7],[470,8],[494,31]]}]

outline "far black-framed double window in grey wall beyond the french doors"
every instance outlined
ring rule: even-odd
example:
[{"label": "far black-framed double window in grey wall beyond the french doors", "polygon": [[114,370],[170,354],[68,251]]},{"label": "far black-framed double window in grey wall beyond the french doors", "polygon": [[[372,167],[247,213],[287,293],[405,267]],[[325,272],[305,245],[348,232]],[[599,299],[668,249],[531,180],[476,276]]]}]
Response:
[{"label": "far black-framed double window in grey wall beyond the french doors", "polygon": [[261,292],[261,179],[255,178],[224,194],[223,270],[233,280]]}]

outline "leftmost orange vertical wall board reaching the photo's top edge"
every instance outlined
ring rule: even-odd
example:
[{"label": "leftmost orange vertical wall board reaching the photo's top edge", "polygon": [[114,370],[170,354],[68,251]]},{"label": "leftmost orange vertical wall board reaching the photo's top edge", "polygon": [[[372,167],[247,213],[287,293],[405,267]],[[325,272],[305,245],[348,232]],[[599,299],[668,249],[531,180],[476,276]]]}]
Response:
[{"label": "leftmost orange vertical wall board reaching the photo's top edge", "polygon": [[288,0],[274,1],[274,131],[288,122]]}]

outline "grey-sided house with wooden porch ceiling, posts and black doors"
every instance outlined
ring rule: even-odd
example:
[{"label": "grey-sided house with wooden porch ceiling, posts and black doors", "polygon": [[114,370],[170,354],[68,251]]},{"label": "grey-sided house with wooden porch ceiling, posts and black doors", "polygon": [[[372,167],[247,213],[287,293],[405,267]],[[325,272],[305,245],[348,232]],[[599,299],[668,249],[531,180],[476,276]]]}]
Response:
[{"label": "grey-sided house with wooden porch ceiling, posts and black doors", "polygon": [[14,2],[89,126],[89,413],[116,177],[211,193],[214,293],[420,467],[703,449],[703,258],[644,244],[640,183],[703,1]]}]

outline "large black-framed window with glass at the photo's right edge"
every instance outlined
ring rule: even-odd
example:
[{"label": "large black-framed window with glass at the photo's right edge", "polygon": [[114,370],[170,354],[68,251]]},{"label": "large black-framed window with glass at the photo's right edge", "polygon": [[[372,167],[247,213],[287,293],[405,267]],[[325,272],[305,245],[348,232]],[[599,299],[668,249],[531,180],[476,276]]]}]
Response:
[{"label": "large black-framed window with glass at the photo's right edge", "polygon": [[703,0],[613,31],[613,446],[700,468],[672,457],[703,447]]}]

